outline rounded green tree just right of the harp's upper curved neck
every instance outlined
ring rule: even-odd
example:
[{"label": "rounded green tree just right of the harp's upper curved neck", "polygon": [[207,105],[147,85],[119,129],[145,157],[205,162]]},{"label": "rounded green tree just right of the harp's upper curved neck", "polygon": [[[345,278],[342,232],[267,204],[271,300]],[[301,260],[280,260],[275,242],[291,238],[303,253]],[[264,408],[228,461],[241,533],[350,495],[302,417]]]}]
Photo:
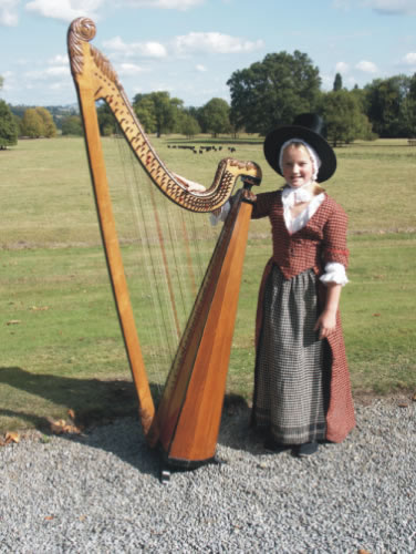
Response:
[{"label": "rounded green tree just right of the harp's upper curved neck", "polygon": [[170,98],[166,91],[152,92],[149,94],[136,94],[133,107],[136,115],[147,133],[170,133],[175,129],[178,110],[183,101]]}]

